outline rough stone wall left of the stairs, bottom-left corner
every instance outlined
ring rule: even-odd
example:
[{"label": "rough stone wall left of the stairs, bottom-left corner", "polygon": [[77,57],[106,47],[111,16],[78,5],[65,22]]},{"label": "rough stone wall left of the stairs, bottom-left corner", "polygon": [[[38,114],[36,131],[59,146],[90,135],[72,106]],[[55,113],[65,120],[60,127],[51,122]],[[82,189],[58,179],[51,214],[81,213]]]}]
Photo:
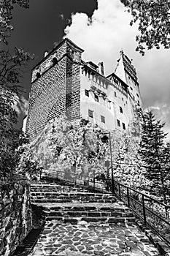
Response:
[{"label": "rough stone wall left of the stairs, bottom-left corner", "polygon": [[26,181],[0,184],[0,255],[10,255],[31,230],[30,187]]}]

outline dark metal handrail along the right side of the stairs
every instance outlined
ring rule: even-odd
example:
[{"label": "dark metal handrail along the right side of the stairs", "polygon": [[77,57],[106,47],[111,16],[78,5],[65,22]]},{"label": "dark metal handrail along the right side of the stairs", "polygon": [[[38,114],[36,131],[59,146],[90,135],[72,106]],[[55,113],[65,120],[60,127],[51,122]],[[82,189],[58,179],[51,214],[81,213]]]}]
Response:
[{"label": "dark metal handrail along the right side of the stairs", "polygon": [[[64,172],[60,171],[60,173],[64,173]],[[92,177],[93,180],[90,181],[90,183],[93,184],[93,186],[89,186],[89,183],[87,184],[85,182],[85,184],[83,185],[82,182],[79,182],[80,180],[76,176],[76,173],[72,172],[72,174],[74,174],[75,180],[74,181],[70,181],[70,180],[66,181],[65,180],[66,182],[68,182],[69,184],[81,185],[83,187],[90,187],[94,191],[97,190],[97,189],[100,189],[101,192],[106,192],[106,185],[109,184],[109,188],[107,187],[107,189],[109,189],[109,192],[112,193],[114,191],[115,192],[114,195],[119,197],[120,200],[122,200],[124,203],[126,203],[128,205],[128,207],[131,208],[132,211],[134,211],[134,214],[136,216],[138,216],[140,219],[142,219],[142,221],[144,222],[144,226],[151,227],[152,230],[155,230],[155,233],[157,233],[158,236],[161,236],[161,238],[163,238],[163,240],[166,241],[166,243],[170,245],[170,241],[165,236],[163,236],[163,233],[161,233],[162,230],[161,231],[158,230],[158,228],[156,228],[150,222],[150,219],[148,220],[148,218],[150,217],[150,215],[148,215],[148,214],[150,213],[153,216],[155,216],[155,218],[158,218],[161,221],[162,225],[169,225],[169,230],[170,230],[170,219],[169,219],[169,213],[168,213],[168,210],[170,209],[170,206],[166,205],[165,203],[159,202],[158,200],[156,200],[155,198],[150,197],[149,195],[144,194],[144,192],[139,192],[136,189],[128,187],[125,184],[120,184],[120,182],[115,181],[115,179],[112,182],[112,178],[109,178],[109,179],[107,178],[105,181],[97,181],[96,177],[93,176]],[[61,179],[61,178],[59,178],[59,179]],[[135,194],[137,196],[137,199],[140,199],[140,201],[136,200],[136,197],[133,197],[131,192],[135,192]],[[123,197],[126,197],[126,200],[124,200]],[[156,203],[156,204],[158,204],[158,206],[161,206],[163,208],[163,211],[165,210],[166,218],[161,216],[161,214],[159,215],[158,212],[148,208],[148,202],[147,202],[146,199],[147,200],[149,199],[150,202]],[[141,211],[138,211],[138,209],[133,207],[133,205],[131,203],[132,201],[136,204],[136,206],[138,205],[138,207],[141,208]],[[156,224],[160,225],[160,222],[158,222]]]}]

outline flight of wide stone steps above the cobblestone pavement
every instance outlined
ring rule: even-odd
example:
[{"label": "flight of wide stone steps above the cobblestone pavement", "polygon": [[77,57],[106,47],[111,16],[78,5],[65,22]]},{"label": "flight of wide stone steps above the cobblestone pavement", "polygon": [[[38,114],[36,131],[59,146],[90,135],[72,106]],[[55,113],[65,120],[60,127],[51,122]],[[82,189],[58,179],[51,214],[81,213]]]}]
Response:
[{"label": "flight of wide stone steps above the cobblestone pavement", "polygon": [[110,193],[58,184],[32,184],[31,203],[42,206],[45,220],[63,222],[134,222],[130,209]]}]

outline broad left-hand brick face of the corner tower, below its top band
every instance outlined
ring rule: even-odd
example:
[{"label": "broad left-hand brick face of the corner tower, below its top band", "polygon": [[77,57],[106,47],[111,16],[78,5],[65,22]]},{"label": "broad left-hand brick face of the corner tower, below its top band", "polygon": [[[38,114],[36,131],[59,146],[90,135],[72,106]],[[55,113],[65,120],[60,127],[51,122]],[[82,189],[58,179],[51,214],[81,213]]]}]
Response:
[{"label": "broad left-hand brick face of the corner tower, below its top band", "polygon": [[66,70],[66,57],[32,84],[27,122],[27,131],[31,138],[36,137],[47,121],[60,116],[66,108],[64,70]]}]

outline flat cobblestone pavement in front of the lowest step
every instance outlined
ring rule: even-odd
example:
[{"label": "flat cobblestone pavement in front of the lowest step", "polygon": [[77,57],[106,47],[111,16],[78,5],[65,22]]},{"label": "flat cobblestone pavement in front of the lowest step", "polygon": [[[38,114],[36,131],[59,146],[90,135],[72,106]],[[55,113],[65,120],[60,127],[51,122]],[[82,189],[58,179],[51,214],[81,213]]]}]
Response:
[{"label": "flat cobblestone pavement in front of the lowest step", "polygon": [[47,221],[30,256],[159,256],[134,224],[80,221],[77,225]]}]

